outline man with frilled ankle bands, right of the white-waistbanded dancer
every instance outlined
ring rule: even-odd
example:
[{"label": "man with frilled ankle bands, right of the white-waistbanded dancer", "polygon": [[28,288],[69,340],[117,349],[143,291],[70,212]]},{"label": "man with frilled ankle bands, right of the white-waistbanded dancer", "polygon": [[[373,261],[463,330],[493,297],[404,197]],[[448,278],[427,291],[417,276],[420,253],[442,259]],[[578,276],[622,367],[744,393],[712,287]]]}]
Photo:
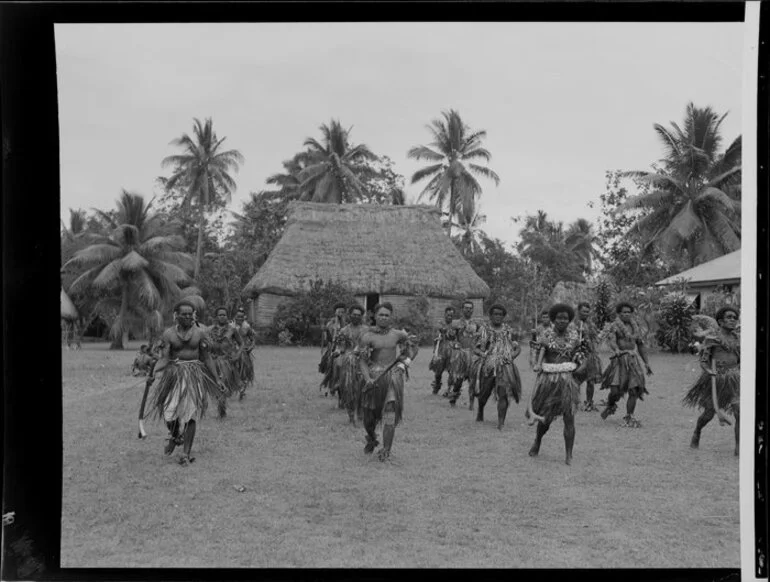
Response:
[{"label": "man with frilled ankle bands, right of the white-waistbanded dancer", "polygon": [[[644,372],[649,376],[652,368],[647,360],[647,352],[644,349],[639,325],[634,321],[634,306],[621,302],[615,307],[618,318],[610,324],[610,335],[607,340],[612,348],[610,364],[602,377],[602,390],[609,389],[607,407],[602,411],[602,418],[615,414],[618,408],[617,402],[623,396],[627,396],[626,416],[623,418],[623,426],[628,428],[640,428],[640,423],[634,418],[636,401],[644,400],[647,391]],[[639,363],[641,357],[645,370]]]}]

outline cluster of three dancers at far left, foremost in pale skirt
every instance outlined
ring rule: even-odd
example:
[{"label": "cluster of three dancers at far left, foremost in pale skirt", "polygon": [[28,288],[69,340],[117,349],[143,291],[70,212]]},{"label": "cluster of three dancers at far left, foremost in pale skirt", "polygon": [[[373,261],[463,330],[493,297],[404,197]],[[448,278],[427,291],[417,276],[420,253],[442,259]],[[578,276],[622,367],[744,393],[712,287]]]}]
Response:
[{"label": "cluster of three dancers at far left, foremost in pale skirt", "polygon": [[151,406],[146,413],[140,410],[140,419],[152,414],[162,418],[169,431],[164,453],[171,455],[182,445],[179,463],[189,465],[195,460],[196,424],[209,400],[216,402],[219,418],[225,418],[228,398],[238,394],[243,400],[254,383],[255,334],[242,309],[230,321],[227,309],[220,307],[206,327],[198,321],[195,305],[182,299],[174,307],[174,319],[160,337],[156,357],[150,350],[140,354],[142,362],[150,359],[146,390],[154,386]]}]

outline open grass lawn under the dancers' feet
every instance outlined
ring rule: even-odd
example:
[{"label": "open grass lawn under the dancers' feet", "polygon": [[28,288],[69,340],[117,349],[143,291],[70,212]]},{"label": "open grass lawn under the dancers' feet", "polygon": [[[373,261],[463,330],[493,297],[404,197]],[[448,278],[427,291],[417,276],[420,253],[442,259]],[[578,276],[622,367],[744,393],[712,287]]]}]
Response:
[{"label": "open grass lawn under the dancers' feet", "polygon": [[210,409],[185,468],[161,423],[137,439],[137,346],[63,352],[62,567],[740,566],[732,429],[714,421],[688,446],[692,357],[652,355],[642,429],[621,428],[623,405],[579,413],[568,467],[561,420],[530,458],[524,404],[502,432],[493,400],[476,423],[467,397],[451,409],[430,393],[423,350],[383,464],[319,395],[318,349],[261,348],[257,385],[226,420]]}]

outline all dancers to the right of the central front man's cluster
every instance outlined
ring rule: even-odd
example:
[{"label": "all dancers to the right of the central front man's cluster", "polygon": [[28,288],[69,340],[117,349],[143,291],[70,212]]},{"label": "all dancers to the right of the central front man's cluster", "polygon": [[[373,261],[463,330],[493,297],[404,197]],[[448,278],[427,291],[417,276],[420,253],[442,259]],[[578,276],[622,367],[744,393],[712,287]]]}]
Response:
[{"label": "all dancers to the right of the central front man's cluster", "polygon": [[[594,404],[594,388],[599,384],[608,390],[601,418],[615,414],[618,402],[626,398],[623,426],[640,428],[634,416],[636,404],[648,394],[646,375],[652,368],[639,326],[634,320],[634,306],[621,302],[616,306],[617,318],[606,336],[612,355],[605,370],[598,355],[599,330],[591,321],[591,306],[581,302],[577,314],[563,303],[553,305],[540,314],[540,321],[530,341],[530,366],[537,374],[530,393],[525,416],[537,423],[535,441],[529,451],[537,456],[543,436],[551,423],[561,416],[564,422],[565,462],[571,464],[575,442],[575,413],[578,409],[598,411]],[[441,389],[442,375],[447,373],[445,393],[454,406],[464,382],[468,383],[469,407],[478,399],[476,420],[484,420],[484,407],[490,396],[497,400],[497,428],[502,430],[511,401],[521,399],[522,385],[515,360],[521,352],[514,331],[503,322],[507,311],[502,305],[489,309],[489,322],[473,320],[473,304],[462,306],[462,316],[455,319],[453,307],[447,307],[444,321],[436,330],[430,369],[434,372],[432,391]],[[575,317],[577,315],[577,318]],[[688,391],[683,403],[699,406],[698,419],[691,446],[697,448],[703,427],[716,415],[721,424],[730,424],[727,414],[735,419],[735,454],[738,454],[740,418],[740,339],[736,334],[738,310],[724,307],[716,315],[718,330],[703,338],[700,363],[703,374]],[[642,367],[642,365],[644,367]],[[586,398],[580,405],[580,386],[586,384]]]}]

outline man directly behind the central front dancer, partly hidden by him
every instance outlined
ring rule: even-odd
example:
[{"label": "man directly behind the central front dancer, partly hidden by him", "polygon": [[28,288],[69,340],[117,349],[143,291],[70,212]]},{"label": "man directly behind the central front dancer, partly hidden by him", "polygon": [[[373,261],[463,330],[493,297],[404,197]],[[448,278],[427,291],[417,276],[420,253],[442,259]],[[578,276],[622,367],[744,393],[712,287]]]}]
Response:
[{"label": "man directly behind the central front dancer, partly hidden by him", "polygon": [[350,423],[355,425],[356,413],[361,402],[361,388],[364,377],[361,375],[359,358],[361,336],[369,329],[363,324],[364,308],[351,305],[348,309],[350,323],[343,327],[335,340],[334,379],[335,389],[339,394],[340,408],[348,412]]}]

